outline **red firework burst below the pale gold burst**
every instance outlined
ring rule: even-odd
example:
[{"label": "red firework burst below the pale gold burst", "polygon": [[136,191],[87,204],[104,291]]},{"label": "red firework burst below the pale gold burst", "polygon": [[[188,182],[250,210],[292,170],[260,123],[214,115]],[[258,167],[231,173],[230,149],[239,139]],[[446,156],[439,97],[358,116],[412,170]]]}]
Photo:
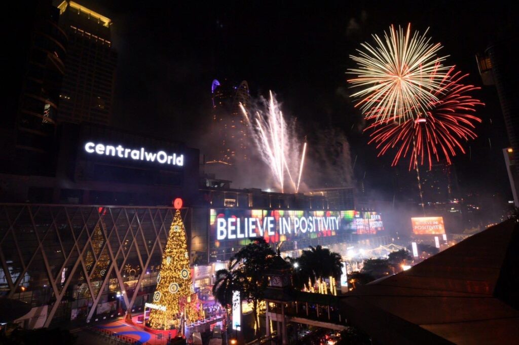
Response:
[{"label": "red firework burst below the pale gold burst", "polygon": [[429,163],[431,169],[433,159],[440,161],[440,158],[444,158],[450,164],[457,149],[464,154],[461,142],[474,139],[477,136],[473,131],[474,123],[481,122],[480,118],[473,115],[475,106],[484,105],[468,94],[479,87],[461,84],[467,75],[454,73],[451,68],[444,79],[444,86],[435,93],[438,100],[431,101],[429,110],[414,119],[399,124],[390,120],[377,121],[375,115],[367,117],[367,120],[374,120],[365,129],[373,131],[368,143],[376,144],[378,156],[396,148],[392,165],[409,154],[411,170],[418,164],[424,165],[424,161]]}]

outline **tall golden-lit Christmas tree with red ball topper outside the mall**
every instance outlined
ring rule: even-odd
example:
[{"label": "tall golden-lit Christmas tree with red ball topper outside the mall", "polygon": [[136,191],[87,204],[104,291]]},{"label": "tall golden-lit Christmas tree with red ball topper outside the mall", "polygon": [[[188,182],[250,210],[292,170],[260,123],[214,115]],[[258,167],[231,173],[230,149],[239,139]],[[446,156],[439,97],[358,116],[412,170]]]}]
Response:
[{"label": "tall golden-lit Christmas tree with red ball topper outside the mall", "polygon": [[187,323],[192,323],[199,316],[190,303],[196,295],[189,269],[186,231],[176,200],[175,208],[177,210],[171,223],[157,277],[157,289],[153,294],[153,303],[160,308],[152,309],[149,315],[149,326],[155,329],[179,327],[181,317],[184,317]]}]

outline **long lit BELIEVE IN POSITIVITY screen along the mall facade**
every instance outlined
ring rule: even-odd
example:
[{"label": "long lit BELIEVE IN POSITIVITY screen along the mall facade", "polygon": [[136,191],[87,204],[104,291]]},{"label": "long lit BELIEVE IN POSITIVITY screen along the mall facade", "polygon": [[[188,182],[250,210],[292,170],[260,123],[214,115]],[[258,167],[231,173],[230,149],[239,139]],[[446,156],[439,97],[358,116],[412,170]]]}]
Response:
[{"label": "long lit BELIEVE IN POSITIVITY screen along the mall facade", "polygon": [[241,246],[259,237],[291,251],[347,242],[351,234],[371,236],[384,229],[376,212],[238,208],[209,212],[209,256],[213,262],[228,260]]}]

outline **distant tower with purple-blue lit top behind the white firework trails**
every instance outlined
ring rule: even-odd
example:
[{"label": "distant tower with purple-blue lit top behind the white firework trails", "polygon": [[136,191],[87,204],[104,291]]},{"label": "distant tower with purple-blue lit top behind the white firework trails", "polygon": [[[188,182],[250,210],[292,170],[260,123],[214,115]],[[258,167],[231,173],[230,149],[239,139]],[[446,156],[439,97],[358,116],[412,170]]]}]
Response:
[{"label": "distant tower with purple-blue lit top behind the white firework trails", "polygon": [[213,80],[211,86],[213,123],[218,135],[211,161],[239,164],[249,159],[249,133],[239,104],[250,106],[249,85],[243,80],[239,85],[227,80]]}]

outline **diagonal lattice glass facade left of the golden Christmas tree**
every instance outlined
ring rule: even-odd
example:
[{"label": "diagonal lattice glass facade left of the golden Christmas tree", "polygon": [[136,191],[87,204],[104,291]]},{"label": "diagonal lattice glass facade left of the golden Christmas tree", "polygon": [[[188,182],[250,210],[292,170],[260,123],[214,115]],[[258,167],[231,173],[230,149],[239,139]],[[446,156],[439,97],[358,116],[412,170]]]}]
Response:
[{"label": "diagonal lattice glass facade left of the golden Christmas tree", "polygon": [[[90,320],[111,277],[126,292],[124,270],[132,262],[141,274],[133,293],[122,294],[132,309],[144,272],[160,265],[173,212],[165,207],[0,204],[0,288],[9,298],[32,292],[28,301],[33,306],[48,304],[47,327],[67,289],[86,284]],[[47,289],[52,298],[46,300]]]}]

